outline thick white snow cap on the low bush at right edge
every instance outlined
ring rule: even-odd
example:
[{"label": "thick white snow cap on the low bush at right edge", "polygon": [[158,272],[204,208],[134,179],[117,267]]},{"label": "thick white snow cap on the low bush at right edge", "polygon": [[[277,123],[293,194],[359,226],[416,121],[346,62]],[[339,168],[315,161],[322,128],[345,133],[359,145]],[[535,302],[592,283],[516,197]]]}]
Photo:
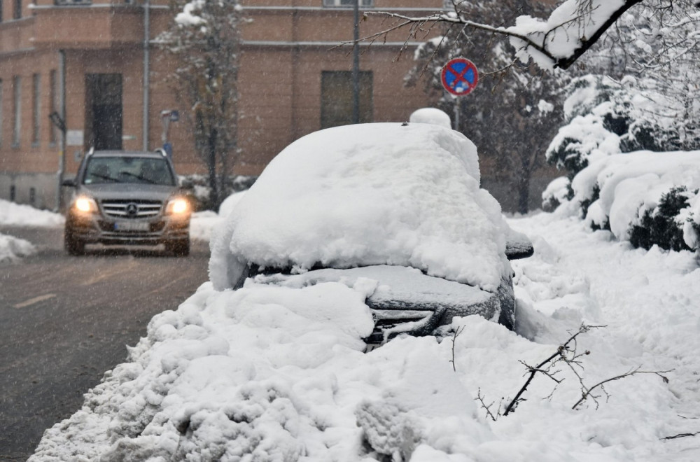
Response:
[{"label": "thick white snow cap on the low bush at right edge", "polygon": [[[599,188],[599,198],[589,206],[588,220],[599,226],[609,221],[618,239],[628,239],[630,226],[645,211],[653,211],[661,195],[675,186],[689,191],[700,188],[700,151],[610,155],[583,169],[571,186],[574,204],[595,199],[594,190]],[[700,216],[697,212],[700,210],[693,216]],[[691,236],[685,238],[692,241]]]}]

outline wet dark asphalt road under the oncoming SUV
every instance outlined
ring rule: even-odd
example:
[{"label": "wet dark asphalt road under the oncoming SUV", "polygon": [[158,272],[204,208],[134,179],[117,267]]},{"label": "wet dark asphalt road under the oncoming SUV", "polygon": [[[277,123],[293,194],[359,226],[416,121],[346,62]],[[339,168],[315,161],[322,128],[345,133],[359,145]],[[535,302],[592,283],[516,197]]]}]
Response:
[{"label": "wet dark asphalt road under the oncoming SUV", "polygon": [[209,246],[187,258],[88,247],[70,257],[62,230],[0,228],[39,252],[0,265],[0,461],[26,461],[46,428],[122,363],[153,315],[207,281]]}]

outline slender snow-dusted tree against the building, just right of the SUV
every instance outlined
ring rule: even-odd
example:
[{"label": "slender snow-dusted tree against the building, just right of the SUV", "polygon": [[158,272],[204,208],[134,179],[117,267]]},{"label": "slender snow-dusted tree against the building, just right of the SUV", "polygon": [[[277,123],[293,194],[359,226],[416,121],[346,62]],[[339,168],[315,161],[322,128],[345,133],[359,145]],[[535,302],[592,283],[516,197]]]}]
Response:
[{"label": "slender snow-dusted tree against the building, just right of the SUV", "polygon": [[178,59],[174,85],[187,105],[195,151],[209,172],[210,204],[218,208],[237,146],[238,68],[244,21],[239,0],[173,0],[179,12],[160,36]]}]

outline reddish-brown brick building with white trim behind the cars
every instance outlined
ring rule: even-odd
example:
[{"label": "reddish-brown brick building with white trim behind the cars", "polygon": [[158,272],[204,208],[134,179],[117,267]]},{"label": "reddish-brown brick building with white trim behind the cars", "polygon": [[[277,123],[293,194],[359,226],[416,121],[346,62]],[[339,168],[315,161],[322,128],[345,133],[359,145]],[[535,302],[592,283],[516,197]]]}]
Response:
[{"label": "reddish-brown brick building with white trim behind the cars", "polygon": [[[236,174],[259,174],[276,153],[304,134],[349,122],[348,0],[242,0],[239,70],[243,158]],[[426,13],[442,0],[360,0],[363,9]],[[0,198],[53,209],[59,172],[72,176],[91,146],[130,150],[162,144],[160,114],[188,108],[167,83],[175,63],[153,43],[173,13],[167,0],[0,0]],[[360,36],[384,27],[363,21]],[[148,38],[148,39],[147,39]],[[405,31],[363,47],[362,121],[407,120],[428,101],[405,88],[412,48],[400,55]],[[409,44],[411,45],[411,44]],[[148,69],[144,79],[144,69]],[[64,108],[64,111],[63,111]],[[63,113],[62,132],[50,115]],[[186,123],[169,130],[176,168],[204,173]]]}]

